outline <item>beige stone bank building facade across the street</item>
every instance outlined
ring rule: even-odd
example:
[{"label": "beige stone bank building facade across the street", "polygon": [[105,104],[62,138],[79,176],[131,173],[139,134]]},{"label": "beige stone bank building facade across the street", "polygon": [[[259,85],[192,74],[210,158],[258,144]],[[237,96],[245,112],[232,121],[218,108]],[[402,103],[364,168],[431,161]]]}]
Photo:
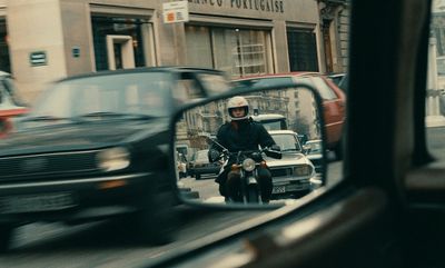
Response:
[{"label": "beige stone bank building facade across the street", "polygon": [[177,23],[165,23],[165,2],[0,1],[0,68],[28,101],[53,80],[119,68],[326,71],[316,0],[188,0],[189,21]]}]

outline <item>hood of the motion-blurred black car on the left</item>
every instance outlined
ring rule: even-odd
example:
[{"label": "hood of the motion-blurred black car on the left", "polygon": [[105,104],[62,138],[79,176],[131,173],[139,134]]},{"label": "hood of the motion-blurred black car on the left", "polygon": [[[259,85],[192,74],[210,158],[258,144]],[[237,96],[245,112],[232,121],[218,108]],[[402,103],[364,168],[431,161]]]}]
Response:
[{"label": "hood of the motion-blurred black car on the left", "polygon": [[26,129],[0,139],[0,156],[87,150],[130,143],[168,130],[167,119],[66,123]]}]

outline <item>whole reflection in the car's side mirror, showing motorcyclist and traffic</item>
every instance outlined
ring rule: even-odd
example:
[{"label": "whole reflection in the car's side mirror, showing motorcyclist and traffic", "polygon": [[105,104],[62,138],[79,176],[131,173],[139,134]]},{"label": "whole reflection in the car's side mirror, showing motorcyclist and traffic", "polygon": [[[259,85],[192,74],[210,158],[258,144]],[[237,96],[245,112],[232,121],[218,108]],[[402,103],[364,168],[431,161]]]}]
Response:
[{"label": "whole reflection in the car's side mirror, showing motorcyclist and traffic", "polygon": [[322,128],[306,88],[206,102],[176,122],[177,178],[186,199],[291,204],[323,183]]}]

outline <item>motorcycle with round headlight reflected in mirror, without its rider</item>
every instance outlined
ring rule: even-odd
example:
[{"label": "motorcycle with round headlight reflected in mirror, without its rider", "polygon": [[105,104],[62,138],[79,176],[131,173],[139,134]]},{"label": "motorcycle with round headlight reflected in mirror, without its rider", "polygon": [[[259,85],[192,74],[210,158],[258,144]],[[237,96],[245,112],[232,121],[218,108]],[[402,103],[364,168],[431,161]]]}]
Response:
[{"label": "motorcycle with round headlight reflected in mirror, without its rider", "polygon": [[[239,199],[234,200],[233,197],[229,198],[229,202],[231,201],[241,201],[243,204],[264,204],[265,201],[261,199],[261,191],[258,180],[258,168],[267,169],[267,163],[263,159],[263,153],[270,158],[280,159],[281,152],[277,150],[273,150],[270,148],[261,148],[258,150],[245,150],[237,152],[229,152],[225,147],[216,142],[219,147],[222,148],[222,153],[217,157],[219,159],[224,159],[224,165],[219,173],[221,173],[227,165],[231,162],[230,172],[235,172],[239,175]],[[219,160],[218,159],[218,160]],[[229,159],[233,159],[229,161]],[[271,179],[271,178],[270,178]]]}]

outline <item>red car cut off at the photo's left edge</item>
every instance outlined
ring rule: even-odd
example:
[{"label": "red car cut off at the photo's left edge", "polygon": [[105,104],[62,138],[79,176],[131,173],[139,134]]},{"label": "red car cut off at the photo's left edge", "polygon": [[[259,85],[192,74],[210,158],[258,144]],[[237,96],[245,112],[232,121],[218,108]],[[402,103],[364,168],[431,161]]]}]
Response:
[{"label": "red car cut off at the photo's left edge", "polygon": [[13,130],[13,118],[28,112],[14,86],[12,76],[0,71],[0,138]]}]

